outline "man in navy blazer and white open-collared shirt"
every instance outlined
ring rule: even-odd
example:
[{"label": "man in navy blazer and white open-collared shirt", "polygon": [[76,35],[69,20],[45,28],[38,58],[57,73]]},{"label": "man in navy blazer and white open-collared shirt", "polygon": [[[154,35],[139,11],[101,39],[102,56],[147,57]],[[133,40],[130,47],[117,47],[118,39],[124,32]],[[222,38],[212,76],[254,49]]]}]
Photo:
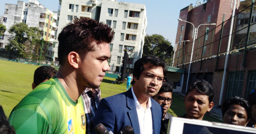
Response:
[{"label": "man in navy blazer and white open-collared shirt", "polygon": [[126,125],[132,126],[134,134],[159,134],[163,108],[151,97],[158,93],[165,74],[165,63],[156,56],[136,61],[132,87],[102,99],[93,125],[102,123],[114,134],[123,131]]}]

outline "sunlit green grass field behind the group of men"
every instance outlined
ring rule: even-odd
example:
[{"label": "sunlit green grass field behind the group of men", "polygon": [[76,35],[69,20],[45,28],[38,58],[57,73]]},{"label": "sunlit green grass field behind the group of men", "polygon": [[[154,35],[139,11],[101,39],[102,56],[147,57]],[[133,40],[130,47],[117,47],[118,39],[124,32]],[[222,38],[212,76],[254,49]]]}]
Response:
[{"label": "sunlit green grass field behind the group of men", "polygon": [[[14,106],[32,91],[33,74],[39,66],[0,60],[0,67],[0,105],[9,117]],[[115,78],[104,77],[100,85],[102,98],[126,91],[126,83],[111,84],[113,80]],[[184,98],[174,93],[172,99],[174,103],[171,104],[168,112],[174,116],[184,115]],[[220,120],[211,117],[209,113],[205,115],[204,120],[220,122]]]}]

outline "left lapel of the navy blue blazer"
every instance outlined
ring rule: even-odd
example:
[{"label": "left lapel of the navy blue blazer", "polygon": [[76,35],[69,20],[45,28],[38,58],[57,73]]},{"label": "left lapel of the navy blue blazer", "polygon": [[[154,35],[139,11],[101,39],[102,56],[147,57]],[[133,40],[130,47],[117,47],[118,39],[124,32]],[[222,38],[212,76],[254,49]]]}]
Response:
[{"label": "left lapel of the navy blue blazer", "polygon": [[128,111],[128,117],[130,119],[133,131],[135,134],[140,134],[138,114],[132,95],[132,89],[126,91],[126,104],[127,107],[130,109],[130,111]]}]

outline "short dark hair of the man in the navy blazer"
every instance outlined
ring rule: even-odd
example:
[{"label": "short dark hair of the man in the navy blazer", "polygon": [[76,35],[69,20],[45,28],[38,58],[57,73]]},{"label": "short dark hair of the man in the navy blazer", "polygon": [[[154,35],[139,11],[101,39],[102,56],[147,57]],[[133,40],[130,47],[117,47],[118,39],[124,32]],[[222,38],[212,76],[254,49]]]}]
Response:
[{"label": "short dark hair of the man in the navy blazer", "polygon": [[[165,69],[165,62],[162,61],[161,58],[158,58],[157,56],[144,56],[137,60],[134,63],[134,68],[133,68],[133,77],[137,78],[139,80],[139,77],[141,76],[141,73],[144,71],[144,65],[145,64],[150,64],[150,67],[162,67],[163,68],[163,73],[164,77],[166,75],[166,69]],[[152,65],[152,66],[151,66]],[[134,79],[132,79],[131,84],[134,84]]]}]

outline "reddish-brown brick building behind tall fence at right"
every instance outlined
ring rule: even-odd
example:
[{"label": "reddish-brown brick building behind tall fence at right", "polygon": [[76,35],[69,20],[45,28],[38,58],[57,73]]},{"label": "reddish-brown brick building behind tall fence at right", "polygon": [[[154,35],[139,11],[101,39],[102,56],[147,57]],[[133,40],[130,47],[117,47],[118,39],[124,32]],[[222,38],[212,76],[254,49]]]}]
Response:
[{"label": "reddish-brown brick building behind tall fence at right", "polygon": [[[180,10],[179,18],[187,22],[178,22],[176,42],[190,40],[177,45],[174,57],[174,66],[186,70],[182,92],[186,92],[191,56],[188,84],[195,79],[210,82],[216,105],[231,96],[246,98],[256,88],[256,6],[252,0],[236,2],[233,22],[234,0],[208,0]],[[194,43],[193,35],[197,35]]]}]

